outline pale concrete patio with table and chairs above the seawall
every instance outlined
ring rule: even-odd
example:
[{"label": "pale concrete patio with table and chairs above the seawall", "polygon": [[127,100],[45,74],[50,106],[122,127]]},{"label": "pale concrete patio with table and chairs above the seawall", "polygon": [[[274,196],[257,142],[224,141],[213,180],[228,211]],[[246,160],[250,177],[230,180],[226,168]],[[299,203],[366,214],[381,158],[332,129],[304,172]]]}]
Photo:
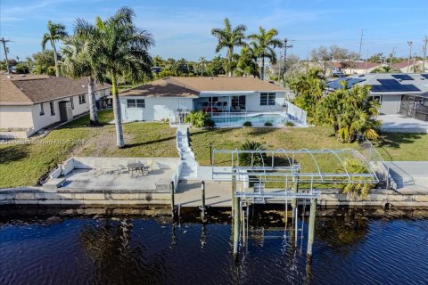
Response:
[{"label": "pale concrete patio with table and chairs above the seawall", "polygon": [[[152,166],[148,171],[129,173],[128,164]],[[176,185],[180,159],[174,158],[71,158],[55,169],[44,190],[58,191],[139,191],[169,193]]]}]

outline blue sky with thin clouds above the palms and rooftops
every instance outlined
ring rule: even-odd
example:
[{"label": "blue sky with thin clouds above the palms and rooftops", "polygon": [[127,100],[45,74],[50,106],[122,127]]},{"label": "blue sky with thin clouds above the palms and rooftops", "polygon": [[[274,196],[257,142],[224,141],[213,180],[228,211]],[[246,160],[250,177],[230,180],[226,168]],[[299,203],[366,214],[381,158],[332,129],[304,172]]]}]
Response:
[{"label": "blue sky with thin clouds above the palms and rooftops", "polygon": [[71,32],[76,18],[106,18],[122,5],[134,8],[136,25],[152,32],[156,40],[152,55],[191,60],[217,55],[210,30],[221,28],[225,17],[233,25],[246,24],[249,33],[260,25],[276,28],[279,37],[294,40],[289,53],[300,58],[319,45],[358,52],[362,28],[363,57],[367,52],[391,53],[393,47],[398,56],[407,56],[407,41],[413,41],[414,52],[421,55],[423,38],[428,36],[426,0],[1,0],[0,36],[13,41],[11,58],[24,58],[41,50],[47,20],[62,22]]}]

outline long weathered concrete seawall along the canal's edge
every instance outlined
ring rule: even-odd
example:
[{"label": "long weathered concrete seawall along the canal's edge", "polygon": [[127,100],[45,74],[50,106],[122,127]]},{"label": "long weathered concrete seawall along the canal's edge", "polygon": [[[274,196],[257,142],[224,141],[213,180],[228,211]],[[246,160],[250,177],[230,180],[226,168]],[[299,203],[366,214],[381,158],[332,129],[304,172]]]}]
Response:
[{"label": "long weathered concrete seawall along the canal's edge", "polygon": [[[424,192],[399,193],[398,191],[373,190],[367,199],[350,199],[337,190],[321,191],[317,204],[322,208],[428,208],[428,195]],[[199,187],[177,191],[176,204],[182,208],[202,206]],[[231,207],[231,192],[227,184],[208,183],[206,205],[214,208]],[[290,202],[290,201],[289,201]],[[160,205],[170,207],[171,194],[153,191],[45,191],[41,187],[15,188],[0,191],[0,205],[64,205],[64,206],[120,206]],[[266,204],[283,204],[284,200],[267,199]],[[303,204],[300,201],[300,204]]]}]

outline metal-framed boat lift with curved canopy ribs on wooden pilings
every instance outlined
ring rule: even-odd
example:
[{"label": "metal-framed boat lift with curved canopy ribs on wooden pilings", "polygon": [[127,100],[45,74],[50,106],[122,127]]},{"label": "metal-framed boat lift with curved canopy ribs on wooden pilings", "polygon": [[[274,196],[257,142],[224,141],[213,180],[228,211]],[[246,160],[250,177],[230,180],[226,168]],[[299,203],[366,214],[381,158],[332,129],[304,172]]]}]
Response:
[{"label": "metal-framed boat lift with curved canopy ribs on wooden pilings", "polygon": [[[348,165],[349,161],[352,161],[350,159],[356,161],[364,170],[353,173]],[[241,232],[243,245],[246,244],[248,213],[252,204],[284,203],[285,224],[287,224],[290,202],[292,221],[295,224],[294,241],[297,245],[298,200],[303,200],[306,205],[306,200],[309,199],[307,255],[310,257],[315,234],[317,198],[320,195],[320,189],[317,189],[316,185],[318,183],[379,183],[370,162],[358,151],[352,149],[342,151],[330,149],[213,150],[211,161],[212,180],[232,183],[234,256],[238,254]],[[335,170],[332,171],[330,167],[328,171],[323,171],[322,162],[333,165]],[[306,185],[305,189],[300,187],[302,184]]]}]

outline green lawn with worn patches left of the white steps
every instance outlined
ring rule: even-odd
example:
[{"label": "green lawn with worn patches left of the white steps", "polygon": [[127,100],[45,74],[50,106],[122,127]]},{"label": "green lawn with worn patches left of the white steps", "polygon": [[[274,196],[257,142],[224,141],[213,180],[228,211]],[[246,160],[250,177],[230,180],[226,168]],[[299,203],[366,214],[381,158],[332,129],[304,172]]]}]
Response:
[{"label": "green lawn with worn patches left of the white steps", "polygon": [[[111,110],[98,113],[103,124]],[[38,143],[0,144],[0,188],[35,185],[49,169],[70,156],[177,157],[176,130],[160,123],[124,124],[127,147],[116,148],[113,125],[87,126],[88,116],[53,130]]]}]

